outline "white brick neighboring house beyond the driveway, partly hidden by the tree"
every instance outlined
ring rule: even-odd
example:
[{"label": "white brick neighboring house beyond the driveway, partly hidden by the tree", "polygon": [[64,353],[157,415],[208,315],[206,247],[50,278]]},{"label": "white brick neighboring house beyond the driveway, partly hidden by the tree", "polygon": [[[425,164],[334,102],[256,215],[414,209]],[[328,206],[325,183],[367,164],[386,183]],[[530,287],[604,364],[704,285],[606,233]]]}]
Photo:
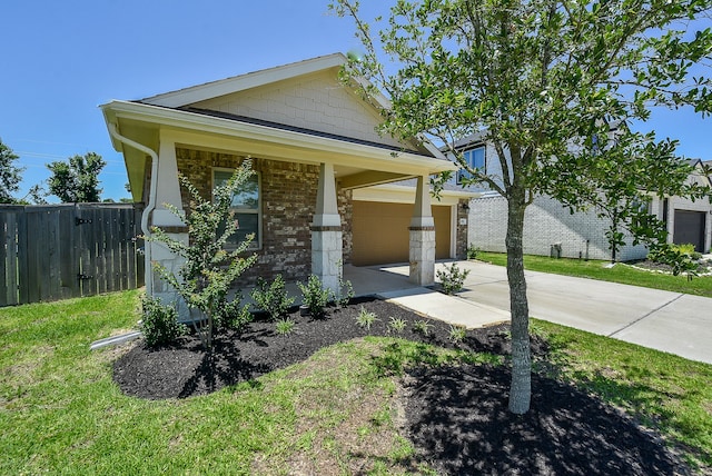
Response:
[{"label": "white brick neighboring house beyond the driveway, partly hidden by the tree", "polygon": [[[483,141],[482,135],[474,135],[456,143],[464,150],[465,159],[478,168],[484,168],[493,177],[502,175],[502,167],[494,147]],[[702,170],[700,160],[692,161],[698,173],[690,180],[712,186]],[[459,171],[457,178],[466,173]],[[475,189],[482,195],[469,202],[468,245],[485,251],[505,251],[506,199],[486,188]],[[693,244],[700,252],[712,247],[712,205],[708,200],[691,200],[680,197],[651,196],[650,212],[668,224],[669,241]],[[561,202],[551,197],[538,197],[527,207],[524,222],[524,252],[528,255],[561,256],[567,258],[610,259],[611,250],[605,231],[610,222],[599,218],[595,209],[571,214]],[[621,261],[643,259],[647,248],[633,246],[632,237],[626,237],[626,246],[617,254]]]}]

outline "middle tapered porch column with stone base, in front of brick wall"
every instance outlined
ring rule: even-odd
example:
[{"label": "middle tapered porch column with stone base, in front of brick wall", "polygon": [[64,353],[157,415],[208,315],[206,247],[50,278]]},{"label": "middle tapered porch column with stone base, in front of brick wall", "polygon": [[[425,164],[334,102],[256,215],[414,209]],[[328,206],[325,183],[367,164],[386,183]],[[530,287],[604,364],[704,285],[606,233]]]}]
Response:
[{"label": "middle tapered porch column with stone base, in front of brick wall", "polygon": [[336,204],[334,165],[322,163],[312,222],[312,274],[334,292],[338,291],[343,266],[342,218]]}]

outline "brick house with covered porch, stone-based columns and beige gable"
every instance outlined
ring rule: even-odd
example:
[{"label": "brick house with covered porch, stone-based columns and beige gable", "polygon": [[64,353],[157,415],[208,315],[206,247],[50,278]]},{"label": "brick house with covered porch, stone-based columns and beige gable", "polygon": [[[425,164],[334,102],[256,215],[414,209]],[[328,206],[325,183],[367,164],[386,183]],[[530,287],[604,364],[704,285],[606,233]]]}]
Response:
[{"label": "brick house with covered porch, stone-based columns and beige gable", "polygon": [[[388,102],[345,86],[346,61],[337,53],[101,106],[134,200],[146,204],[144,229],[187,240],[185,224],[165,207],[189,208],[178,173],[210,197],[250,158],[257,175],[235,208],[239,236],[256,236],[247,279],[314,274],[335,288],[344,264],[398,260],[409,261],[414,282],[432,284],[436,257],[464,254],[466,228],[458,251],[454,224],[465,219],[457,204],[472,195],[431,206],[429,177],[454,165],[428,142],[379,136]],[[415,188],[387,185],[408,179]],[[170,295],[149,265],[175,269],[176,257],[147,242],[146,261],[149,290]]]}]

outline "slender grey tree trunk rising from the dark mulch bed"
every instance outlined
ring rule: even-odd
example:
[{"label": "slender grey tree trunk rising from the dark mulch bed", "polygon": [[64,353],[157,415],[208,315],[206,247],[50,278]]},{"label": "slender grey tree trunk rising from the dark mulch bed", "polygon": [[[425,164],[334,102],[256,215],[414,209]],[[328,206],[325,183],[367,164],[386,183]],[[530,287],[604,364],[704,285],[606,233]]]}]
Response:
[{"label": "slender grey tree trunk rising from the dark mulch bed", "polygon": [[528,411],[532,400],[532,356],[530,347],[530,306],[524,278],[524,194],[510,197],[507,207],[507,278],[512,314],[512,385],[510,411]]}]

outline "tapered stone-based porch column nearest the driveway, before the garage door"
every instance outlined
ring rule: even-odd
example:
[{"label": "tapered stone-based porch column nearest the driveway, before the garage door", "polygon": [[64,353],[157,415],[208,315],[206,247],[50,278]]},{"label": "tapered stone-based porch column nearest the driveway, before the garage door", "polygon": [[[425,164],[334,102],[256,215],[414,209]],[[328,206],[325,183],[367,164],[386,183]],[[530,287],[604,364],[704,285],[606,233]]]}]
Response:
[{"label": "tapered stone-based porch column nearest the driveway, before the garage door", "polygon": [[427,176],[418,177],[415,209],[411,219],[411,282],[429,286],[435,282],[435,220],[431,209]]}]

